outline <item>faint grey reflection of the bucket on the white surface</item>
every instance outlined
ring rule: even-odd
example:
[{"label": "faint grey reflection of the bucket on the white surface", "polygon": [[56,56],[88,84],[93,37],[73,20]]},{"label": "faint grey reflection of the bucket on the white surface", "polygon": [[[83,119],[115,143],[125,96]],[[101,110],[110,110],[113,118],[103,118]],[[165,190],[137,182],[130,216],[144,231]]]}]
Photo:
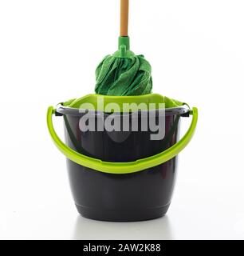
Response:
[{"label": "faint grey reflection of the bucket on the white surface", "polygon": [[171,240],[174,236],[167,216],[146,222],[99,222],[78,216],[73,239]]}]

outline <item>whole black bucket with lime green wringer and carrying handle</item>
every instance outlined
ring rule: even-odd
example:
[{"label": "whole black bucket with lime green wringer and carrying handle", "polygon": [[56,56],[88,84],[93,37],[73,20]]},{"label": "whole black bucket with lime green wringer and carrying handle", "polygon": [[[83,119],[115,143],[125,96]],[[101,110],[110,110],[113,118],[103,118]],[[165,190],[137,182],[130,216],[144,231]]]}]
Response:
[{"label": "whole black bucket with lime green wringer and carrying handle", "polygon": [[[190,110],[186,104],[159,94],[102,96],[103,106],[99,103],[100,97],[91,94],[73,99],[56,109],[50,106],[47,113],[49,133],[67,158],[69,182],[78,212],[85,218],[113,222],[162,217],[171,204],[178,154],[191,141],[198,110]],[[106,110],[112,102],[121,107],[120,112]],[[122,105],[132,102],[137,106],[142,102],[155,106],[148,110],[132,107],[124,111]],[[53,114],[64,118],[65,143],[53,128]],[[85,115],[93,118],[96,130],[82,129],[81,118]],[[191,126],[179,140],[180,120],[191,115]],[[103,128],[111,117],[120,119],[120,128],[128,120],[128,129],[97,129]],[[152,140],[155,132],[141,128],[144,118],[148,122],[154,118],[155,123],[162,125],[164,136]],[[132,129],[135,123],[137,130]]]}]

